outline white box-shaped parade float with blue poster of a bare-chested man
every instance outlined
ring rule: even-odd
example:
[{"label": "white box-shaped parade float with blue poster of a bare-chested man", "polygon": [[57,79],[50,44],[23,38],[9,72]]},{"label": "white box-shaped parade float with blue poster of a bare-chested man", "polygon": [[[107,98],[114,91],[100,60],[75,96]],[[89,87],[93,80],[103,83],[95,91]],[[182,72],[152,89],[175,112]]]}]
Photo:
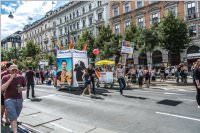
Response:
[{"label": "white box-shaped parade float with blue poster of a bare-chested man", "polygon": [[86,51],[58,50],[56,58],[56,82],[59,89],[72,89],[84,85],[83,73],[88,67]]}]

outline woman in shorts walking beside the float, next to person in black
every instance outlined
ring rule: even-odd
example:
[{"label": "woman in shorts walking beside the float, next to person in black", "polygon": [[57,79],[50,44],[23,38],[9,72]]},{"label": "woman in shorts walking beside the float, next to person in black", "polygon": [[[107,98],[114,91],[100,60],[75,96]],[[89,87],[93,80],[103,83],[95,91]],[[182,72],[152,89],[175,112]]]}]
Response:
[{"label": "woman in shorts walking beside the float, next to person in black", "polygon": [[89,92],[89,95],[91,95],[91,77],[90,77],[90,74],[89,74],[89,70],[88,69],[85,69],[85,72],[83,74],[83,80],[85,82],[85,88],[82,92],[82,96],[85,95],[85,92],[88,90]]}]

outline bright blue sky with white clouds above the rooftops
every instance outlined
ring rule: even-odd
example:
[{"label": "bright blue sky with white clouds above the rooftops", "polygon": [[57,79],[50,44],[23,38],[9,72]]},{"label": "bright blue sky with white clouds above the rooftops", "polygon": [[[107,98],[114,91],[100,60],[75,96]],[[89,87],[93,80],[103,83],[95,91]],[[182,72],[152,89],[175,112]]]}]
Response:
[{"label": "bright blue sky with white clouds above the rooftops", "polygon": [[[46,12],[56,9],[69,0],[0,0],[1,4],[1,40],[16,31],[23,30],[24,26],[42,18]],[[13,13],[14,18],[8,18],[10,12]],[[32,19],[30,19],[32,18]]]}]

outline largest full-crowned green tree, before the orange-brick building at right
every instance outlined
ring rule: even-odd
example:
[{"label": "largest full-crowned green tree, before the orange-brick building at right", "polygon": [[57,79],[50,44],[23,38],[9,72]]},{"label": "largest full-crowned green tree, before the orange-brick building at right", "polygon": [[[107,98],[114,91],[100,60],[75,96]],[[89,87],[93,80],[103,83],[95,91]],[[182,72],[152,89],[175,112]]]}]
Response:
[{"label": "largest full-crowned green tree, before the orange-brick building at right", "polygon": [[171,12],[159,24],[159,39],[161,47],[169,52],[169,63],[171,65],[180,63],[180,52],[191,41],[186,22],[175,17]]}]

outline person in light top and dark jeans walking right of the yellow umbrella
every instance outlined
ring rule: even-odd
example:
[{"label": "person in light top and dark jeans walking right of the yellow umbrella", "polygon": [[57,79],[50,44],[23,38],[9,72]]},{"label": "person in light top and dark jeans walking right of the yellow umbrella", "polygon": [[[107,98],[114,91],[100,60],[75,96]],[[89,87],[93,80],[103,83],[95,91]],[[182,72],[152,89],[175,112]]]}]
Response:
[{"label": "person in light top and dark jeans walking right of the yellow umbrella", "polygon": [[118,79],[119,86],[120,86],[120,94],[123,95],[123,89],[126,88],[126,83],[124,80],[125,70],[121,63],[118,63],[118,68],[116,69],[116,78]]}]

